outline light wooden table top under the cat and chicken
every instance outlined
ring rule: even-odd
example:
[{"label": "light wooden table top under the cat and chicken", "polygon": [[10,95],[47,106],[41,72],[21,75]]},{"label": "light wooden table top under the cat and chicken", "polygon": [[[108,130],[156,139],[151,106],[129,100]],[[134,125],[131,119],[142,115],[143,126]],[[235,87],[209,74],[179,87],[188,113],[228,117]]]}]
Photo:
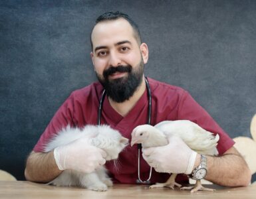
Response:
[{"label": "light wooden table top under the cat and chicken", "polygon": [[[213,185],[208,185],[207,187],[213,187]],[[215,192],[199,191],[191,194],[188,190],[171,190],[170,188],[149,189],[147,185],[114,184],[114,186],[106,192],[95,192],[83,188],[57,187],[27,181],[0,181],[0,198],[256,198],[255,185],[239,188],[223,188],[221,186],[214,186],[214,188],[217,189]]]}]

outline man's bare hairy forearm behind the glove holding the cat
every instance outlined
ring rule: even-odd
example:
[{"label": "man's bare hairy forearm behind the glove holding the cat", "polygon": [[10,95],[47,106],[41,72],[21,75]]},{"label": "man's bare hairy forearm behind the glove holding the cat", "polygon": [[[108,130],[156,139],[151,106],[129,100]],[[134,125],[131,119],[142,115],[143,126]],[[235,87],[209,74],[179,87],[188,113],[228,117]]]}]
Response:
[{"label": "man's bare hairy forearm behind the glove holding the cat", "polygon": [[25,168],[25,178],[33,182],[50,182],[61,174],[56,165],[53,151],[49,153],[32,152]]}]

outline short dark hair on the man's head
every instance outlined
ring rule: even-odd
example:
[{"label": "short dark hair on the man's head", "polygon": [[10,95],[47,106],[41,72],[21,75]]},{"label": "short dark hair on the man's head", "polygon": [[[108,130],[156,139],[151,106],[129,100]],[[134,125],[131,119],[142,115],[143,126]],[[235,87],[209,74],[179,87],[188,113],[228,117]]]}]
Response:
[{"label": "short dark hair on the man's head", "polygon": [[[132,26],[132,29],[134,30],[134,36],[135,36],[138,44],[141,44],[141,37],[140,37],[140,31],[139,31],[138,25],[128,15],[121,13],[119,11],[115,11],[115,12],[111,11],[111,12],[107,12],[107,13],[100,15],[96,19],[94,27],[102,21],[114,21],[114,20],[120,19],[120,18],[123,18],[126,21],[128,21],[128,23],[130,23],[130,25]],[[94,27],[92,28],[92,31],[93,31]],[[91,45],[92,51],[93,51],[92,32],[90,33],[90,45]]]}]

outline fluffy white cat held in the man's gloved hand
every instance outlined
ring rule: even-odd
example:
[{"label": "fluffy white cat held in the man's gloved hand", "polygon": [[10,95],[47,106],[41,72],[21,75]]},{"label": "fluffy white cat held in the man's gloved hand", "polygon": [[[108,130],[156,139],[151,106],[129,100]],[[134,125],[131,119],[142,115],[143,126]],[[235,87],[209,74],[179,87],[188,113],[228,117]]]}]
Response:
[{"label": "fluffy white cat held in the man's gloved hand", "polygon": [[[57,133],[45,146],[45,152],[56,147],[66,145],[80,137],[88,137],[90,145],[103,149],[107,153],[106,161],[118,158],[118,154],[128,145],[128,139],[108,125],[86,125],[84,128],[72,128],[67,126]],[[105,191],[112,186],[112,180],[108,177],[106,168],[100,166],[94,172],[84,173],[76,170],[63,170],[53,181],[49,182],[56,186],[81,186],[90,190]]]}]

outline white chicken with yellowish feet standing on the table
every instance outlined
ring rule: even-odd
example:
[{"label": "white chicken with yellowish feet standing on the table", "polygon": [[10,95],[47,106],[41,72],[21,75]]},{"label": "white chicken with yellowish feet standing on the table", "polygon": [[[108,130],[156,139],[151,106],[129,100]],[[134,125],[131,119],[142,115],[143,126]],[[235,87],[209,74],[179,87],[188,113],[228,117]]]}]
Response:
[{"label": "white chicken with yellowish feet standing on the table", "polygon": [[[202,129],[196,123],[189,120],[176,120],[176,121],[162,121],[155,125],[139,125],[132,131],[131,145],[141,143],[143,148],[147,147],[160,147],[168,144],[168,135],[176,135],[180,137],[190,149],[203,155],[218,155],[217,141],[219,135],[214,136],[213,133]],[[174,186],[181,187],[180,184],[175,182],[177,174],[172,174],[170,178],[164,183],[157,183],[150,188],[169,187],[174,189]],[[195,186],[182,187],[184,190],[197,190],[213,189],[205,188],[201,185],[201,180],[197,180]]]}]

